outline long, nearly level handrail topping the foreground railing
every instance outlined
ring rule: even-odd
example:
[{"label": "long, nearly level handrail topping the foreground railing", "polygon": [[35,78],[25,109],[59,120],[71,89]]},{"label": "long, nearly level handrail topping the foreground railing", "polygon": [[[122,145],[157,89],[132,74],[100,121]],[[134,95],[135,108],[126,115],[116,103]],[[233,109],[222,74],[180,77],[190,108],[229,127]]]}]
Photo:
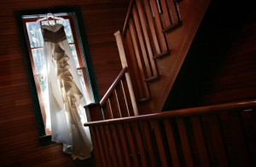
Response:
[{"label": "long, nearly level handrail topping the foreground railing", "polygon": [[253,101],[239,101],[239,102],[232,102],[232,103],[225,103],[219,105],[212,105],[207,107],[193,107],[187,109],[180,109],[180,110],[173,110],[173,111],[166,111],[154,114],[147,114],[147,115],[140,115],[135,117],[129,118],[114,118],[108,119],[103,121],[93,121],[90,123],[85,123],[84,126],[90,125],[99,125],[99,124],[118,124],[124,122],[137,122],[137,121],[145,121],[145,120],[155,120],[160,118],[178,118],[184,116],[193,116],[199,114],[209,114],[209,113],[216,113],[216,112],[232,112],[237,110],[250,110],[252,107],[256,107],[256,100]]}]

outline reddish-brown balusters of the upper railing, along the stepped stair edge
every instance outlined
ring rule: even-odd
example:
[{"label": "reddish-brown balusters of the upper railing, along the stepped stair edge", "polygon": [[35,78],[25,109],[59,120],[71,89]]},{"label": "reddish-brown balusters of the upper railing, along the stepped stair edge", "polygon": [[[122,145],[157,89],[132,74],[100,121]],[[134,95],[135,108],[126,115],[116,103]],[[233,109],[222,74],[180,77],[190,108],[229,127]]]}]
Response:
[{"label": "reddish-brown balusters of the upper railing, along the stepped stair edge", "polygon": [[[137,101],[148,101],[148,82],[159,78],[155,59],[169,55],[166,32],[182,25],[180,0],[132,0],[122,37]],[[115,34],[116,36],[116,34]]]}]

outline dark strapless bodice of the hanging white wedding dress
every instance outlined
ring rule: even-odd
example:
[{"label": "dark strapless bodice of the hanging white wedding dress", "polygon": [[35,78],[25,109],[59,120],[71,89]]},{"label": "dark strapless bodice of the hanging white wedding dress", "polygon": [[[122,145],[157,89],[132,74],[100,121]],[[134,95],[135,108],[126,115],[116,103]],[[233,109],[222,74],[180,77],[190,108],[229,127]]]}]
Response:
[{"label": "dark strapless bodice of the hanging white wedding dress", "polygon": [[53,26],[42,26],[44,42],[60,43],[67,39],[64,26],[56,24]]}]

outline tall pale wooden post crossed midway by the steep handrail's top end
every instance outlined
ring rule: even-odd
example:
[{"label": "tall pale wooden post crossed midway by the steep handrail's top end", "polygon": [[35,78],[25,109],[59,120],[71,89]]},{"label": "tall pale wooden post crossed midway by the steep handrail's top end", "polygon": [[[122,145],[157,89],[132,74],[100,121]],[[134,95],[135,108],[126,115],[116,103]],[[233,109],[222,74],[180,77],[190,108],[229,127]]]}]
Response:
[{"label": "tall pale wooden post crossed midway by the steep handrail's top end", "polygon": [[[122,67],[123,68],[125,68],[126,66],[128,67],[121,32],[120,31],[115,32],[113,35],[116,39],[116,43],[117,43],[117,46],[118,46],[118,49],[119,49],[119,56],[120,56],[120,60],[121,60],[121,63],[122,63]],[[132,85],[131,85],[131,77],[130,77],[129,72],[125,72],[125,78],[127,80],[127,85],[128,85],[129,93],[130,93],[130,96],[131,96],[131,105],[132,105],[132,108],[133,108],[134,115],[138,115],[137,102],[136,102],[134,91],[133,91],[133,88],[132,88]]]}]

